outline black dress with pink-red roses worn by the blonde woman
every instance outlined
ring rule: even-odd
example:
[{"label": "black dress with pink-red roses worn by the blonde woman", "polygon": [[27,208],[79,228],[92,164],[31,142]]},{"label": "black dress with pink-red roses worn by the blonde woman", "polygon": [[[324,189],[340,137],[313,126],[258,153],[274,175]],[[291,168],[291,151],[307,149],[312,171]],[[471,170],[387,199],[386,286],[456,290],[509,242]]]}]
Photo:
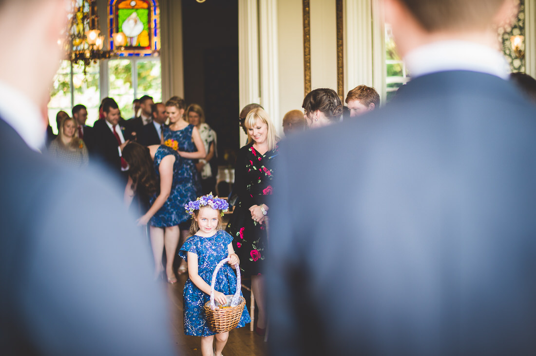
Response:
[{"label": "black dress with pink-red roses worn by the blonde woman", "polygon": [[240,257],[240,268],[245,276],[262,272],[268,247],[265,225],[251,218],[249,208],[263,203],[268,205],[278,153],[276,146],[261,155],[250,143],[242,147],[236,157],[233,190],[238,199],[226,230],[233,237],[233,247]]}]

